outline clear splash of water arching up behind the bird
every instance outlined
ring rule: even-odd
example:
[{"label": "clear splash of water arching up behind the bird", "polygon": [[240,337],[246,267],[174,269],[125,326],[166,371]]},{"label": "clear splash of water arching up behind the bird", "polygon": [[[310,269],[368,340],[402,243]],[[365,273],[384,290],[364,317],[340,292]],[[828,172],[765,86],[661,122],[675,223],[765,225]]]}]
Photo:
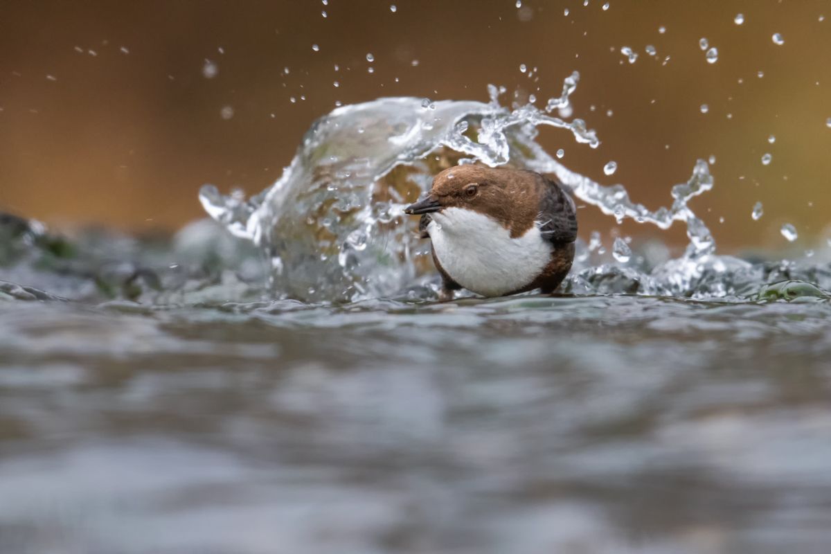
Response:
[{"label": "clear splash of water arching up behind the bird", "polygon": [[[513,110],[499,105],[504,89],[496,86],[489,86],[489,103],[382,98],[343,106],[312,125],[292,163],[263,193],[245,200],[205,185],[199,199],[231,233],[265,253],[273,292],[314,302],[435,287],[429,243],[417,238],[417,220],[405,216],[403,208],[430,188],[440,169],[473,162],[549,174],[618,222],[632,218],[661,229],[686,223],[690,243],[684,255],[638,275],[639,292],[690,295],[711,272],[750,271],[747,262],[715,256],[710,230],[687,205],[713,186],[705,160],[696,162],[686,183],[671,189],[669,207],[652,211],[629,199],[622,184],[597,184],[537,144],[539,125],[569,130],[574,140],[592,148],[600,144],[583,120],[546,113],[570,106],[568,97],[578,79],[576,72],[569,76],[563,95],[548,101],[545,111],[534,105],[514,105]],[[617,249],[618,260],[626,256]],[[565,288],[582,290],[582,272],[593,269],[576,264]],[[729,292],[730,287],[706,291]]]}]

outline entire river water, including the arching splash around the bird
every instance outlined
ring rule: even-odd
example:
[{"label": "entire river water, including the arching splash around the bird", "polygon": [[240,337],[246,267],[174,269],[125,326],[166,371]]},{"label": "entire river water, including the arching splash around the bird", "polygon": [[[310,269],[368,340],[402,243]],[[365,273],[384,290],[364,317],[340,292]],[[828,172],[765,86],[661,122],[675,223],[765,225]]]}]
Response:
[{"label": "entire river water, including the arching splash around the bird", "polygon": [[[0,552],[828,552],[828,257],[716,254],[686,206],[706,162],[650,211],[535,125],[597,141],[377,101],[317,122],[258,197],[204,189],[221,226],[0,217]],[[450,151],[656,239],[591,235],[554,297],[435,302],[400,210]]]}]

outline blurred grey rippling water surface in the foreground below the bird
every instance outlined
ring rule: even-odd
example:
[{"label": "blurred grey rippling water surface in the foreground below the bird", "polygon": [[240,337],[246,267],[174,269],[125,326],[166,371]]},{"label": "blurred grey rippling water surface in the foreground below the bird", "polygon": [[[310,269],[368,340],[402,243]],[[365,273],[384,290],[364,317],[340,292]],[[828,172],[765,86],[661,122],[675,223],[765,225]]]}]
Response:
[{"label": "blurred grey rippling water surface in the foreground below the bird", "polygon": [[0,552],[826,552],[831,304],[0,302]]}]

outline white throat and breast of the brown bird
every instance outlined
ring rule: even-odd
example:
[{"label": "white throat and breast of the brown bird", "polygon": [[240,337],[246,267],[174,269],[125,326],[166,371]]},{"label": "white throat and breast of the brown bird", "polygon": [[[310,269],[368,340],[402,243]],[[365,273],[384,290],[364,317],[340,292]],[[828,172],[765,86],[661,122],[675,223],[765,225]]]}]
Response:
[{"label": "white throat and breast of the brown bird", "polygon": [[483,213],[444,208],[427,226],[435,257],[450,277],[484,297],[514,292],[534,281],[551,259],[551,246],[533,225],[523,236]]}]

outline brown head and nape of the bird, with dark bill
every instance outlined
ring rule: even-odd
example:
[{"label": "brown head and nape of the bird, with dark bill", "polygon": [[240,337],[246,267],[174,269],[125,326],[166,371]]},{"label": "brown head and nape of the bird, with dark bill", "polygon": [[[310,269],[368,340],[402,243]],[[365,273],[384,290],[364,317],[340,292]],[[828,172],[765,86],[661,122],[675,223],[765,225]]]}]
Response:
[{"label": "brown head and nape of the bird, with dark bill", "polygon": [[538,216],[542,179],[520,169],[459,165],[437,174],[430,193],[404,211],[418,214],[444,208],[471,209],[494,218],[518,237]]}]

